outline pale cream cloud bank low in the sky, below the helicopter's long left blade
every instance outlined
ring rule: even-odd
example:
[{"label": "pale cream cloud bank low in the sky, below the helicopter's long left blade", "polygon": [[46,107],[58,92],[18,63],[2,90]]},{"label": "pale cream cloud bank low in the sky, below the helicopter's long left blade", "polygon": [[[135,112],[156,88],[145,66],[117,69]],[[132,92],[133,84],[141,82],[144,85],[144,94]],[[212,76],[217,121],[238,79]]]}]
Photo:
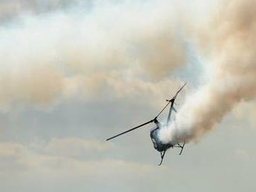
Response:
[{"label": "pale cream cloud bank low in the sky, below the helicopter's long left blade", "polygon": [[[109,173],[142,175],[155,171],[154,166],[113,159],[89,160],[82,153],[93,150],[94,156],[112,144],[78,138],[51,139],[28,145],[14,142],[0,143],[0,176],[26,177],[106,177]],[[85,155],[86,156],[86,155]],[[140,170],[140,171],[138,171]]]}]

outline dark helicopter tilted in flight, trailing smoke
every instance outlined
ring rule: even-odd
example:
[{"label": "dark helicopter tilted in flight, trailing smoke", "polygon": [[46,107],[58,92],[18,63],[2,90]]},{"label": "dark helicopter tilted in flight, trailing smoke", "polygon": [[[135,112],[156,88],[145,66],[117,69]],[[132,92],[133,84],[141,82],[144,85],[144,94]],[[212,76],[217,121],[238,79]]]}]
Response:
[{"label": "dark helicopter tilted in flight, trailing smoke", "polygon": [[[174,147],[178,147],[180,148],[180,153],[179,155],[182,155],[182,151],[184,149],[184,146],[185,146],[185,140],[183,142],[163,142],[161,141],[161,138],[159,137],[158,133],[160,132],[160,130],[166,126],[168,127],[170,124],[171,124],[171,111],[175,111],[177,112],[177,110],[175,109],[175,99],[177,98],[178,96],[178,93],[180,91],[182,91],[183,87],[185,87],[186,83],[183,84],[183,86],[176,92],[175,96],[169,100],[166,100],[168,103],[164,106],[164,108],[162,108],[162,110],[155,116],[155,118],[151,119],[150,121],[148,122],[145,122],[141,125],[137,125],[136,127],[132,128],[132,129],[129,129],[125,132],[121,132],[117,135],[114,135],[108,139],[106,139],[106,141],[109,141],[111,139],[114,139],[120,135],[123,135],[127,132],[131,132],[135,129],[139,129],[140,127],[143,127],[144,125],[147,125],[147,124],[150,124],[152,122],[154,122],[154,124],[156,125],[156,127],[154,129],[151,129],[150,130],[150,139],[151,141],[153,142],[153,145],[154,145],[154,149],[156,149],[158,152],[160,152],[161,154],[161,162],[158,164],[158,166],[161,166],[161,163],[163,162],[163,159],[164,159],[164,155],[165,155],[165,152],[167,151],[167,149],[169,148],[174,148]],[[159,115],[161,115],[161,113],[164,111],[165,108],[168,107],[168,105],[170,105],[170,109],[168,111],[168,117],[167,117],[167,121],[166,123],[161,123],[157,120],[157,118],[159,117]]]}]

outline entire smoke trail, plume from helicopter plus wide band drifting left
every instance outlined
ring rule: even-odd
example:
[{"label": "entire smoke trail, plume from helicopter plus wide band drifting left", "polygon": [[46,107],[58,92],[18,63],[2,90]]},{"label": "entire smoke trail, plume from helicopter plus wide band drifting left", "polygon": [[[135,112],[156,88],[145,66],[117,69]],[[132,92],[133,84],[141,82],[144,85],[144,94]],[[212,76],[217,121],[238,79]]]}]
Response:
[{"label": "entire smoke trail, plume from helicopter plus wide band drifting left", "polygon": [[[196,139],[240,101],[256,97],[253,0],[219,1],[203,25],[199,18],[192,25],[193,11],[180,12],[175,1],[24,2],[0,6],[9,8],[2,18],[19,15],[0,27],[0,108],[101,95],[161,101],[180,81],[168,75],[188,63],[185,39],[193,38],[203,83],[162,129],[164,141]],[[185,36],[184,29],[196,33]]]}]

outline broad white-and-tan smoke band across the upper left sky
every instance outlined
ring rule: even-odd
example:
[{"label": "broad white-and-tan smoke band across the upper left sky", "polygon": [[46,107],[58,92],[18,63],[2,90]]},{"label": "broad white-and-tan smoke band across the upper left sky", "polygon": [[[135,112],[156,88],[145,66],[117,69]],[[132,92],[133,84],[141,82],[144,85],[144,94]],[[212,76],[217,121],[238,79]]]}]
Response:
[{"label": "broad white-and-tan smoke band across the upper left sky", "polygon": [[76,9],[65,2],[0,2],[9,7],[3,17],[19,15],[0,27],[0,108],[52,105],[81,94],[87,100],[134,81],[147,90],[185,64],[185,43],[168,1],[76,1]]}]

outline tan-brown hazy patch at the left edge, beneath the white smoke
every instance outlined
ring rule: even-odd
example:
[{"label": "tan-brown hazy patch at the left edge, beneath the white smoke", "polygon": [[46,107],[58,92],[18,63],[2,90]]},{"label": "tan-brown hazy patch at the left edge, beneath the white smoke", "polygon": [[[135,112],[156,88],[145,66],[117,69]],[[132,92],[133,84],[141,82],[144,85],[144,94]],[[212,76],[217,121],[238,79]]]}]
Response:
[{"label": "tan-brown hazy patch at the left edge, beneath the white smoke", "polygon": [[[59,71],[49,67],[22,67],[18,71],[2,71],[0,77],[0,105],[2,109],[22,105],[53,104],[61,96],[64,77]],[[20,106],[21,105],[21,106]]]}]

